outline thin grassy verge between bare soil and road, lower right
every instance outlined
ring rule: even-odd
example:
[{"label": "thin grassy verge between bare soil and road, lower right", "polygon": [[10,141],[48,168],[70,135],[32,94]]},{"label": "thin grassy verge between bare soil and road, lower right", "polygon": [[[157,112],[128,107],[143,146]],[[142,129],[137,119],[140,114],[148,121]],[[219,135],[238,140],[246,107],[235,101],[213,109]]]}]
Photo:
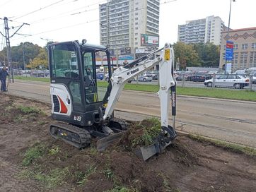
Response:
[{"label": "thin grassy verge between bare soil and road, lower right", "polygon": [[211,139],[211,138],[204,138],[202,136],[197,136],[197,135],[192,135],[189,134],[188,135],[189,138],[192,138],[193,140],[197,140],[199,142],[208,142],[211,143],[212,145],[221,147],[221,148],[225,148],[227,150],[231,150],[232,152],[242,152],[245,153],[247,155],[250,156],[256,156],[256,149],[255,148],[250,148],[250,147],[246,147],[243,145],[238,145],[238,144],[234,144],[234,143],[228,143],[222,140],[215,140],[215,139]]}]

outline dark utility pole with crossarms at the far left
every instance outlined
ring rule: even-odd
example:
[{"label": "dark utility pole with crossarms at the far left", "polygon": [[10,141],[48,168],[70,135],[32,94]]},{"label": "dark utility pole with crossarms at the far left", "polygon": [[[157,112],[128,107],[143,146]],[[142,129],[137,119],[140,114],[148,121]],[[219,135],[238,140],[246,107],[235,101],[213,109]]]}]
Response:
[{"label": "dark utility pole with crossarms at the far left", "polygon": [[[0,18],[2,19],[2,18]],[[3,20],[3,19],[2,19]],[[9,78],[9,83],[14,83],[14,80],[13,80],[13,66],[12,66],[12,59],[11,59],[11,45],[10,45],[10,38],[13,37],[13,35],[16,34],[16,32],[18,32],[18,30],[20,30],[23,25],[29,25],[28,23],[23,23],[19,28],[18,30],[16,30],[16,32],[13,33],[13,35],[9,35],[9,30],[10,28],[8,27],[8,21],[12,21],[12,20],[8,20],[7,17],[4,17],[4,30],[5,30],[5,35],[3,33],[1,33],[1,35],[3,35],[5,38],[6,38],[6,49],[7,49],[7,63],[8,63],[8,70],[10,71],[11,73],[11,77]]]}]

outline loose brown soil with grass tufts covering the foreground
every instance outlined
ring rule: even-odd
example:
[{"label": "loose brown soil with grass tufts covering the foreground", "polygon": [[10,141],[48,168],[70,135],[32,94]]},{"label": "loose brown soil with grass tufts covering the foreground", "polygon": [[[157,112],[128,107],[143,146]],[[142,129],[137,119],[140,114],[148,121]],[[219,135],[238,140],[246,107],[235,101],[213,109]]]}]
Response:
[{"label": "loose brown soil with grass tufts covering the foreground", "polygon": [[[127,148],[129,134],[105,152],[54,140],[48,104],[1,94],[0,112],[0,191],[256,191],[256,157],[211,143],[178,136],[144,162]],[[24,166],[25,152],[39,145],[41,155]]]}]

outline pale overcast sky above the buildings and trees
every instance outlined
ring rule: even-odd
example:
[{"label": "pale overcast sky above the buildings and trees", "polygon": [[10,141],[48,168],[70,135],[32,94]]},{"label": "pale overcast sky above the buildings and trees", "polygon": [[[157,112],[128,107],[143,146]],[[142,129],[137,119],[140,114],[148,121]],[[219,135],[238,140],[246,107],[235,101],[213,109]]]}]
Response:
[{"label": "pale overcast sky above the buildings and trees", "polygon": [[[4,17],[7,17],[9,34],[23,23],[11,46],[32,42],[40,47],[47,41],[64,42],[86,39],[88,43],[100,44],[99,4],[106,0],[0,0],[0,32],[4,34]],[[230,0],[161,0],[159,42],[177,42],[178,25],[186,20],[219,16],[228,26]],[[256,27],[255,0],[232,1],[232,29]],[[23,34],[23,35],[21,35]],[[5,46],[0,34],[0,50]]]}]

